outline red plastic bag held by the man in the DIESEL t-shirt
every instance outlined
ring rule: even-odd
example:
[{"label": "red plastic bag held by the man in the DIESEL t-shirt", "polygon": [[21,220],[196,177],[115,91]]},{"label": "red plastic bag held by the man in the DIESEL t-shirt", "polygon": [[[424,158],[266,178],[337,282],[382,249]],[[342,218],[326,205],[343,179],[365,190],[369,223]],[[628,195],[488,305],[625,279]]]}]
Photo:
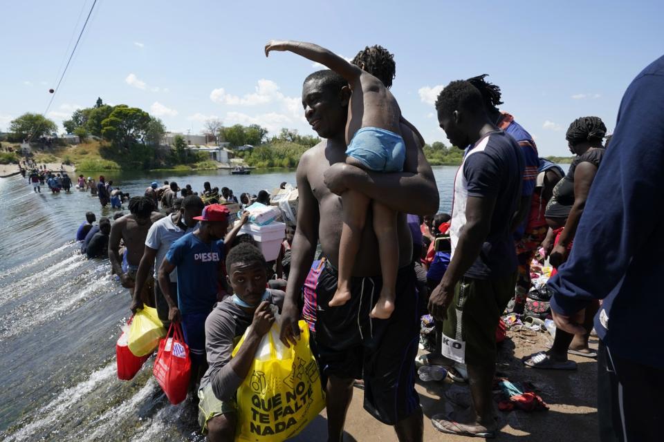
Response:
[{"label": "red plastic bag held by the man in the DIESEL t-shirt", "polygon": [[160,340],[152,372],[170,403],[175,405],[185,400],[192,363],[180,324],[171,324],[166,337]]}]

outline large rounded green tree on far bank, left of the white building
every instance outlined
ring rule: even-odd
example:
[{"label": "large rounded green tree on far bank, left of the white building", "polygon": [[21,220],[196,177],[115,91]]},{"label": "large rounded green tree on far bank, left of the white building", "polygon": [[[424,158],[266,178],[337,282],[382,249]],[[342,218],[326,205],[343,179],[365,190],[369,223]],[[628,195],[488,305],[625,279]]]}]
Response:
[{"label": "large rounded green tree on far bank, left of the white building", "polygon": [[128,151],[136,142],[145,142],[150,121],[150,115],[139,108],[116,106],[102,121],[102,137],[116,148]]}]

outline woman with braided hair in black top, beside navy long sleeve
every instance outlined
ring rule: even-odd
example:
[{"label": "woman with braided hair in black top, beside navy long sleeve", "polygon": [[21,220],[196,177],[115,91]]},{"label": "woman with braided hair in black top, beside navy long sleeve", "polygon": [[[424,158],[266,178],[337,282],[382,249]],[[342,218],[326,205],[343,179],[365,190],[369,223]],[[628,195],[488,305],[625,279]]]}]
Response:
[{"label": "woman with braided hair in black top, beside navy long sleeve", "polygon": [[[569,125],[565,138],[569,150],[576,155],[569,171],[553,189],[553,196],[546,206],[546,222],[549,235],[543,246],[550,252],[551,265],[557,268],[567,259],[579,220],[583,213],[590,187],[600,166],[605,148],[602,140],[607,133],[607,126],[599,117],[581,117]],[[553,249],[551,242],[553,241]],[[554,273],[555,274],[555,273]],[[553,276],[553,275],[552,275]],[[601,278],[601,275],[598,275]],[[553,346],[548,352],[535,353],[524,361],[534,368],[576,369],[576,363],[569,361],[568,352],[580,356],[595,357],[596,353],[588,347],[588,338],[593,328],[593,317],[598,303],[587,307],[584,326],[587,333],[573,335],[557,329]]]}]

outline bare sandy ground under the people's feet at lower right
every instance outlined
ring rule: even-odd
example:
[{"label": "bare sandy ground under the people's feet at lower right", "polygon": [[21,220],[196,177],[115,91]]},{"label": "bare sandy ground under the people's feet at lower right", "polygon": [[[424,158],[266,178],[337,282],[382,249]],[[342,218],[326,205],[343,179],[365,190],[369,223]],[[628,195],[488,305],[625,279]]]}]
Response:
[{"label": "bare sandy ground under the people's feet at lower right", "polygon": [[[542,412],[500,412],[500,441],[596,441],[597,421],[597,363],[596,360],[571,356],[578,363],[576,371],[537,370],[526,368],[520,358],[548,348],[553,339],[548,334],[537,333],[525,336],[523,332],[508,331],[508,339],[501,348],[498,371],[510,381],[530,381],[537,393],[549,406]],[[597,338],[591,338],[591,347],[597,347]],[[454,405],[445,398],[445,390],[468,392],[467,384],[446,379],[441,382],[418,380],[416,390],[424,412],[424,440],[472,441],[464,436],[443,434],[434,429],[430,418],[434,414],[454,410]],[[363,392],[354,389],[349,408],[344,441],[396,441],[394,430],[376,421],[362,408]],[[457,407],[458,408],[458,407]],[[497,410],[497,407],[496,407]],[[326,439],[325,412],[309,425],[294,441],[324,441]]]}]

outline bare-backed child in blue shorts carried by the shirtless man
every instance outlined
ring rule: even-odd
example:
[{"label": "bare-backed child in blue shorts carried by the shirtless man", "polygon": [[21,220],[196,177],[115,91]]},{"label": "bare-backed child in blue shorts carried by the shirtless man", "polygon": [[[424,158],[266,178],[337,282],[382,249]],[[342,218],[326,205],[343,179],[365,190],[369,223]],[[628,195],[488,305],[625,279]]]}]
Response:
[{"label": "bare-backed child in blue shorts carried by the shirtless man", "polygon": [[[374,49],[384,50],[380,46]],[[371,75],[363,66],[350,64],[335,53],[315,44],[300,41],[270,41],[265,47],[267,56],[272,50],[291,51],[317,61],[340,74],[348,81],[352,95],[346,126],[346,163],[363,170],[376,172],[401,172],[406,156],[406,146],[401,135],[401,111],[387,84]],[[382,68],[391,66],[394,77],[394,60],[383,57]],[[315,130],[315,122],[313,124]],[[344,226],[339,249],[339,276],[337,289],[329,301],[330,307],[339,307],[351,300],[353,265],[360,248],[362,230],[367,222],[371,204],[374,214],[374,232],[378,238],[378,256],[382,276],[382,288],[378,302],[371,310],[371,318],[387,319],[394,311],[396,299],[396,275],[399,253],[396,234],[396,212],[385,204],[371,201],[367,195],[354,190],[342,194]]]}]

